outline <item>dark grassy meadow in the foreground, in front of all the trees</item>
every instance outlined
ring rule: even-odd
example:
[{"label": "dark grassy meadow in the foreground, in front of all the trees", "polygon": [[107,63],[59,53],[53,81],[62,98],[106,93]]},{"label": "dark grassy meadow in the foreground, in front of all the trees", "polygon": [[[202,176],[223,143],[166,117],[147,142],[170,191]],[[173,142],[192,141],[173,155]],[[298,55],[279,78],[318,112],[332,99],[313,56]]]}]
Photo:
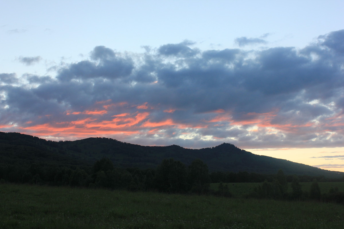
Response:
[{"label": "dark grassy meadow in the foreground, in front of all the trees", "polygon": [[344,228],[344,206],[0,184],[0,228]]}]

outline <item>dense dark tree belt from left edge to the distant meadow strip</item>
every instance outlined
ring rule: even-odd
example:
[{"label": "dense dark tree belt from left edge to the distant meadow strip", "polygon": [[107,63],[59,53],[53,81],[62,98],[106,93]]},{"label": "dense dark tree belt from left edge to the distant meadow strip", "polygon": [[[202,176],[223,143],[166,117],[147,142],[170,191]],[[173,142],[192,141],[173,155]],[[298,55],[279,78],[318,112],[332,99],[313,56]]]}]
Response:
[{"label": "dense dark tree belt from left edge to the distant meadow strip", "polygon": [[168,193],[208,193],[211,183],[208,167],[199,159],[189,166],[164,159],[156,169],[125,169],[115,168],[108,158],[96,161],[92,167],[44,163],[1,165],[0,181]]}]

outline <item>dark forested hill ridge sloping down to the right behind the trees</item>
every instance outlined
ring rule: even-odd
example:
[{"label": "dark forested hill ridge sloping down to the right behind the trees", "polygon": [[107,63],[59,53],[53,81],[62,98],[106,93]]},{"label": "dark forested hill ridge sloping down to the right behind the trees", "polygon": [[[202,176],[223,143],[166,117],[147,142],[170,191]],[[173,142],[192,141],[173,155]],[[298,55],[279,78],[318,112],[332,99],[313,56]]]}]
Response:
[{"label": "dark forested hill ridge sloping down to the right behind the trees", "polygon": [[47,141],[20,133],[0,132],[0,165],[45,163],[54,165],[92,165],[103,157],[116,167],[156,168],[163,159],[173,158],[189,165],[201,159],[209,171],[255,172],[343,177],[343,172],[322,170],[283,159],[259,156],[241,150],[232,144],[204,149],[186,149],[180,146],[140,146],[111,138],[86,138],[76,141]]}]

